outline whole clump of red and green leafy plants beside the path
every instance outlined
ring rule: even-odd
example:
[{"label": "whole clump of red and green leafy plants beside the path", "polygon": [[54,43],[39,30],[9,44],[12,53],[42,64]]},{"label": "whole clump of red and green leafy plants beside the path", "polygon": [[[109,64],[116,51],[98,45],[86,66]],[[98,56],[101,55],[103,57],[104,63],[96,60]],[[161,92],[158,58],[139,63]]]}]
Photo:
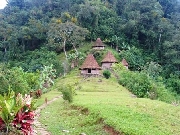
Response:
[{"label": "whole clump of red and green leafy plants beside the path", "polygon": [[0,95],[0,131],[9,133],[13,128],[24,134],[32,133],[34,118],[33,102],[30,95],[23,96],[9,89],[8,94]]}]

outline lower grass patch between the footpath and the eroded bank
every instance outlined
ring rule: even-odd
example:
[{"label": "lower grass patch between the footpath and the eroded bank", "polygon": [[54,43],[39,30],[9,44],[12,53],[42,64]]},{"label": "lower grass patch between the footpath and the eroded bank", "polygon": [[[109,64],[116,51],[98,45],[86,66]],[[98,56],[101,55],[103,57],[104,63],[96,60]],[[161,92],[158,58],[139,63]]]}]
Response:
[{"label": "lower grass patch between the footpath and the eroded bank", "polygon": [[79,135],[80,133],[106,135],[96,115],[87,115],[83,109],[71,107],[62,98],[42,110],[40,122],[46,125],[52,135]]}]

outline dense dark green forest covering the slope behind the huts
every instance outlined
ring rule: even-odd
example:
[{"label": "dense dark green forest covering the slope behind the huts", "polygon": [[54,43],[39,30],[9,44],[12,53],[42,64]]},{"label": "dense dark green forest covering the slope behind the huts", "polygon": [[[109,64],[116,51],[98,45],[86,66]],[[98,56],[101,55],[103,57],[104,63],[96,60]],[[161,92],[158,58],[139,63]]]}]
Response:
[{"label": "dense dark green forest covering the slope behind the huts", "polygon": [[[65,66],[65,62],[58,59],[60,53],[68,60],[67,51],[77,52],[84,42],[100,37],[119,52],[119,57],[126,58],[130,70],[146,69],[153,77],[158,76],[156,79],[163,80],[166,87],[180,94],[178,0],[7,2],[0,10],[1,84],[8,84],[5,80],[9,81],[22,70],[45,72],[46,66],[51,65],[56,74],[60,74]],[[5,78],[4,74],[8,76]],[[22,78],[18,81],[23,82]],[[24,82],[22,85],[25,88]]]}]

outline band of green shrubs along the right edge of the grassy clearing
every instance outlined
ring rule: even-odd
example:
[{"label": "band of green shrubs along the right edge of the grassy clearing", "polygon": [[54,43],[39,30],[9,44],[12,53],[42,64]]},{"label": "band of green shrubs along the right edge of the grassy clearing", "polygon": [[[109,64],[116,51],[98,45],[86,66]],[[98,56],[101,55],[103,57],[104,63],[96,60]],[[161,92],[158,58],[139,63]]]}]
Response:
[{"label": "band of green shrubs along the right edge of the grassy clearing", "polygon": [[122,70],[119,72],[119,84],[123,85],[139,98],[148,97],[171,103],[176,95],[165,87],[161,79],[153,80],[144,72]]}]

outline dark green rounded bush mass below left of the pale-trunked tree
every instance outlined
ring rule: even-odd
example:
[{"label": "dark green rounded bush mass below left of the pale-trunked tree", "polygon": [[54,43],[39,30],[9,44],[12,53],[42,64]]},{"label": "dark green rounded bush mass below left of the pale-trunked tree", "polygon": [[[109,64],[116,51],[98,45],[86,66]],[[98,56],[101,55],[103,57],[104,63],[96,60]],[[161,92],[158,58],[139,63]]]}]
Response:
[{"label": "dark green rounded bush mass below left of the pale-trunked tree", "polygon": [[53,69],[55,69],[56,74],[59,75],[63,73],[61,63],[55,52],[48,51],[47,48],[41,48],[26,52],[19,60],[10,61],[10,66],[22,67],[24,71],[28,72],[36,72],[37,70],[42,70],[44,65],[53,65]]}]

